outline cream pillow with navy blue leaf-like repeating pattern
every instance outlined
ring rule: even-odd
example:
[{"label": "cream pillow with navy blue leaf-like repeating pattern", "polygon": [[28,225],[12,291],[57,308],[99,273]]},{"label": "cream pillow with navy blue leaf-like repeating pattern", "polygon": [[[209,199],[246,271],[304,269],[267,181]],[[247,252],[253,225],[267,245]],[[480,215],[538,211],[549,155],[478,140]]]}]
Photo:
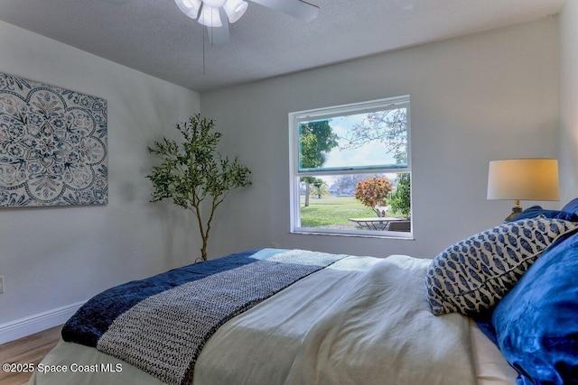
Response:
[{"label": "cream pillow with navy blue leaf-like repeating pattern", "polygon": [[448,247],[430,264],[427,300],[436,316],[473,316],[493,307],[545,248],[578,223],[536,218],[508,222]]}]

